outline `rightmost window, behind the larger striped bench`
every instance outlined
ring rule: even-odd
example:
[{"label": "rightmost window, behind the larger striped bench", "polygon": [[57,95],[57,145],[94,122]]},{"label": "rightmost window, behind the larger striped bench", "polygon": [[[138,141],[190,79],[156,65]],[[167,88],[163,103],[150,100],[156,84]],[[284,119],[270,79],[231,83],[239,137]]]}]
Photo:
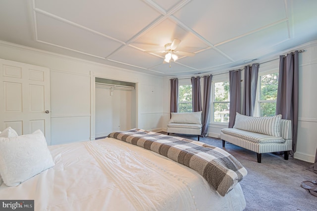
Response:
[{"label": "rightmost window, behind the larger striped bench", "polygon": [[278,87],[278,72],[259,76],[259,94],[256,109],[258,116],[271,117],[275,115]]}]

